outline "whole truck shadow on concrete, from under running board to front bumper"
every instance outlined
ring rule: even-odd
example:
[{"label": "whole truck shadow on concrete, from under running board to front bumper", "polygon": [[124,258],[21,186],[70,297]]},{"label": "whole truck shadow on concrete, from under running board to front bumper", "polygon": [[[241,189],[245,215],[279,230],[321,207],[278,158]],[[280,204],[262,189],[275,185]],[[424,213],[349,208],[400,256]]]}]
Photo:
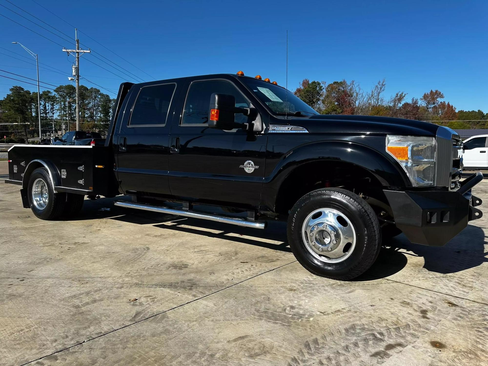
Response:
[{"label": "whole truck shadow on concrete, from under running board to front bumper", "polygon": [[[231,224],[185,218],[114,206],[121,197],[96,201],[85,200],[81,215],[76,220],[108,219],[121,222],[221,238],[239,244],[291,253],[286,239],[286,224],[269,222],[264,230]],[[488,262],[484,245],[487,237],[483,229],[468,225],[445,246],[412,244],[402,234],[385,240],[377,260],[366,273],[355,281],[371,281],[391,276],[401,271],[409,257],[423,257],[427,271],[442,274],[456,273]]]}]

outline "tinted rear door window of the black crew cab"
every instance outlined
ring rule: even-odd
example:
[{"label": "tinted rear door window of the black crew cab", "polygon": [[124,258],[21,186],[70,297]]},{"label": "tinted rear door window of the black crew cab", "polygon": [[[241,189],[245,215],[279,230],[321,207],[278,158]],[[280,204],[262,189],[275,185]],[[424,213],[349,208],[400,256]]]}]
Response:
[{"label": "tinted rear door window of the black crew cab", "polygon": [[173,98],[176,84],[144,86],[137,96],[129,126],[166,124],[169,104]]}]

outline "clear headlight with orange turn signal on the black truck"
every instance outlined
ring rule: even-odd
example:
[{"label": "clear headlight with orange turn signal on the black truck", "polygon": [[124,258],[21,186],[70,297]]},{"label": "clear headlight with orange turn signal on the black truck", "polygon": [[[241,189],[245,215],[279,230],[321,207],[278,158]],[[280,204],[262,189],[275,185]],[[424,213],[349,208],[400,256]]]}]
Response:
[{"label": "clear headlight with orange turn signal on the black truck", "polygon": [[434,184],[434,137],[388,135],[386,151],[402,164],[414,187]]}]

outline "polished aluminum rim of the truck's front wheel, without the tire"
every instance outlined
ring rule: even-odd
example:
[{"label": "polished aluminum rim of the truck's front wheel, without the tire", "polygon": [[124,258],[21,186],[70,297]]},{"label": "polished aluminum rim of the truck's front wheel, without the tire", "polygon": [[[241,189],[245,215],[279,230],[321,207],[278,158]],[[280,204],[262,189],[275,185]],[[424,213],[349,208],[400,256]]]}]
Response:
[{"label": "polished aluminum rim of the truck's front wheel, without the tire", "polygon": [[346,260],[356,246],[356,231],[351,221],[333,208],[320,208],[310,213],[302,233],[307,250],[326,263]]}]

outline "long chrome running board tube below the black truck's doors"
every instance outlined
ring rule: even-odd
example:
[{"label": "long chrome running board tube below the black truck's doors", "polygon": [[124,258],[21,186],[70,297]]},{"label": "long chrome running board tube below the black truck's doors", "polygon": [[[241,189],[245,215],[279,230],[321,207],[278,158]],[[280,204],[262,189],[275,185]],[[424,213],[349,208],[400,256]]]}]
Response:
[{"label": "long chrome running board tube below the black truck's doors", "polygon": [[240,219],[240,218],[211,215],[211,214],[207,214],[207,213],[203,213],[203,212],[176,210],[176,209],[169,208],[169,207],[152,206],[152,205],[143,204],[143,203],[116,201],[114,204],[116,206],[121,206],[121,207],[137,208],[139,210],[160,212],[160,213],[166,213],[166,214],[178,215],[178,216],[185,216],[185,217],[193,217],[195,219],[217,221],[219,223],[234,224],[234,225],[244,226],[244,227],[253,227],[255,229],[264,229],[266,227],[265,221],[249,221],[249,220]]}]

